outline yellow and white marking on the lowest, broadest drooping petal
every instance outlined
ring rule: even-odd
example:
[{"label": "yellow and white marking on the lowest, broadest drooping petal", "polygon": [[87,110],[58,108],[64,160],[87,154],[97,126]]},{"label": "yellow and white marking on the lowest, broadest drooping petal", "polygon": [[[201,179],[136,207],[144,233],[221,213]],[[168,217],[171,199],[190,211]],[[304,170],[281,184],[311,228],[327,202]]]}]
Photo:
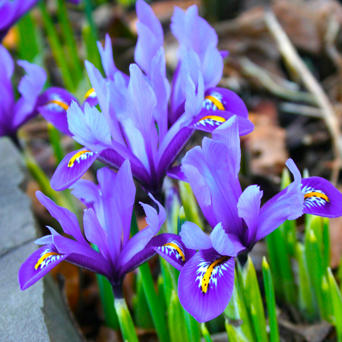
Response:
[{"label": "yellow and white marking on the lowest, broadest drooping petal", "polygon": [[224,255],[211,264],[207,261],[202,261],[198,265],[196,281],[199,280],[199,287],[203,293],[207,293],[209,284],[211,286],[217,285],[217,279],[223,275],[223,271],[228,269],[225,262],[230,258],[231,257]]}]

